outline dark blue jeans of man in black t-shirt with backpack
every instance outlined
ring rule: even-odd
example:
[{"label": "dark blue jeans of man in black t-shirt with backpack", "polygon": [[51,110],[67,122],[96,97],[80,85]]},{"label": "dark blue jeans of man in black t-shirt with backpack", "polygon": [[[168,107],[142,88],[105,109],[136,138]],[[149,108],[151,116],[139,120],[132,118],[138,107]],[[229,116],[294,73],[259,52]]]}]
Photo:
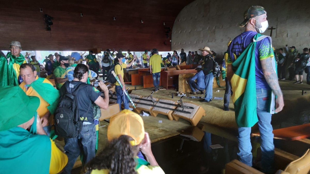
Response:
[{"label": "dark blue jeans of man in black t-shirt with backpack", "polygon": [[68,156],[68,163],[64,167],[64,174],[71,173],[72,167],[80,154],[83,154],[83,165],[95,158],[96,128],[94,124],[83,124],[78,137],[65,138],[64,150]]}]

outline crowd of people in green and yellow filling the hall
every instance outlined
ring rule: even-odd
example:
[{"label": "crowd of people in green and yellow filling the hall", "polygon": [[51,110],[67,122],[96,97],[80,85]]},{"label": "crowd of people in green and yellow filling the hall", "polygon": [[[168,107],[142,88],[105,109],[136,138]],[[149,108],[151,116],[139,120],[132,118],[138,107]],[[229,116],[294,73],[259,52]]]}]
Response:
[{"label": "crowd of people in green and yellow filling the hall", "polygon": [[[250,7],[244,13],[240,26],[245,27],[245,31],[229,41],[224,52],[224,111],[229,111],[232,96],[238,125],[238,156],[249,166],[253,161],[251,127],[258,122],[262,139],[262,171],[272,173],[274,145],[271,115],[284,107],[278,80],[285,80],[288,71],[288,79],[295,79],[294,84],[301,84],[305,71],[307,84],[310,85],[309,49],[304,48],[303,53],[299,54],[295,46],[288,48],[286,45],[286,53],[283,48],[276,53],[271,38],[261,34],[268,28],[267,12],[261,6]],[[213,98],[216,53],[207,46],[199,49],[202,55],[197,51],[186,54],[181,49],[180,54],[173,51],[164,58],[154,48],[150,54],[145,50],[140,59],[131,50],[123,54],[121,49],[112,53],[107,49],[97,57],[90,50],[84,58],[78,52],[72,52],[70,56],[56,52],[44,60],[46,78],[40,77],[41,65],[34,55],[20,54],[20,42],[12,41],[9,49],[11,52],[7,55],[0,53],[0,106],[11,104],[12,107],[0,110],[0,166],[6,166],[1,171],[4,173],[23,173],[25,170],[33,173],[70,173],[79,156],[83,173],[164,173],[153,156],[142,118],[129,111],[123,69],[132,68],[133,64],[149,68],[155,92],[159,90],[162,67],[184,62],[199,64],[197,73],[189,79],[191,94],[204,94],[201,102],[211,102]],[[117,103],[120,110],[123,103],[124,110],[111,118],[107,132],[108,146],[95,156],[99,124],[96,115],[100,112],[96,108],[107,109],[109,95],[102,81],[96,89],[90,85],[89,78],[98,78],[102,69],[105,79],[106,75],[109,76],[106,72],[111,68],[119,79],[115,82]],[[49,79],[55,79],[56,89]],[[272,94],[277,98],[272,98]],[[53,127],[59,124],[60,120],[56,120],[55,115],[62,113],[59,108],[65,107],[61,103],[67,98],[76,101],[76,122],[82,122],[79,122],[81,127],[76,136],[64,138],[65,152],[62,152],[52,140],[55,136]],[[272,101],[276,103],[274,108],[268,106]],[[59,133],[59,129],[55,132]]]}]

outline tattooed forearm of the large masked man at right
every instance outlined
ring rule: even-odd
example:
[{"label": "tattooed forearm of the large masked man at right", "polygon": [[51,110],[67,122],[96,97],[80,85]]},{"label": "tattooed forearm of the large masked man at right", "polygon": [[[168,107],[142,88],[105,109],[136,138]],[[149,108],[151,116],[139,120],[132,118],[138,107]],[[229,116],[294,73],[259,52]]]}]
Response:
[{"label": "tattooed forearm of the large masked man at right", "polygon": [[282,95],[280,85],[279,85],[279,81],[277,78],[277,74],[276,74],[276,72],[274,72],[273,67],[272,67],[271,58],[267,58],[267,59],[262,60],[261,64],[262,64],[262,68],[263,68],[264,77],[265,77],[268,85],[272,89],[272,91],[278,96]]}]

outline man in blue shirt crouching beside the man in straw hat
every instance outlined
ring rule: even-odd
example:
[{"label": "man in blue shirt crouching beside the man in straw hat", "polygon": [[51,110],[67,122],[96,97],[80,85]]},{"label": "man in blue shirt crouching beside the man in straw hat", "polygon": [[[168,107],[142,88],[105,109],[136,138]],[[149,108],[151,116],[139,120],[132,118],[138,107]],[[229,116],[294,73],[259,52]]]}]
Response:
[{"label": "man in blue shirt crouching beside the man in straw hat", "polygon": [[[196,95],[198,91],[201,91],[201,94],[205,92],[205,75],[202,71],[202,66],[198,65],[196,70],[197,73],[188,82],[189,87],[192,89],[191,94],[194,95]],[[196,79],[197,82],[194,81]]]}]

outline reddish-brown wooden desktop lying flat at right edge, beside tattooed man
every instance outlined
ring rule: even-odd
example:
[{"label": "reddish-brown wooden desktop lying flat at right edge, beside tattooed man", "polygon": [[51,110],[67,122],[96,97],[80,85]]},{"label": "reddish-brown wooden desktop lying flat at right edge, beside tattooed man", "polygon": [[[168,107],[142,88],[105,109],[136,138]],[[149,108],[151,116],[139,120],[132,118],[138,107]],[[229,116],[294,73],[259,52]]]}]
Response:
[{"label": "reddish-brown wooden desktop lying flat at right edge, beside tattooed man", "polygon": [[[310,137],[310,123],[287,128],[275,129],[272,131],[274,139],[294,141]],[[252,136],[260,136],[259,133],[252,133]]]}]

